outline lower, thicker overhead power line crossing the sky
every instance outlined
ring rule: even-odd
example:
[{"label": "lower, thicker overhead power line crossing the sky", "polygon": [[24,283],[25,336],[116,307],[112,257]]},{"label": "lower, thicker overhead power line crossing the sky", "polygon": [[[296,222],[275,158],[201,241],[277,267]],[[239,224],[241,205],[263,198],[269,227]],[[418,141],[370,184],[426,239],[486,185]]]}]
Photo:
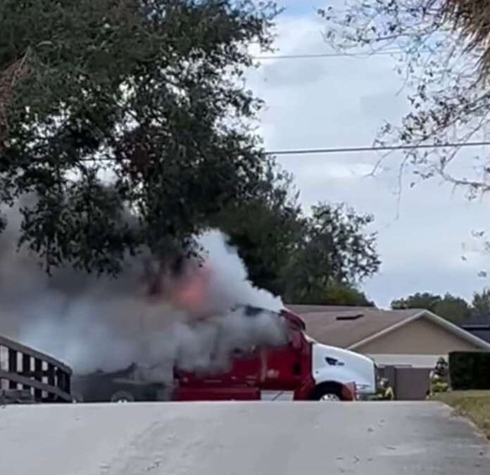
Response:
[{"label": "lower, thicker overhead power line crossing the sky", "polygon": [[383,152],[394,150],[418,150],[423,148],[463,148],[490,145],[490,141],[474,142],[448,142],[446,144],[417,144],[417,145],[382,145],[382,146],[359,146],[338,148],[299,148],[289,150],[275,150],[266,152],[267,155],[319,155],[325,153],[356,153],[356,152]]}]

